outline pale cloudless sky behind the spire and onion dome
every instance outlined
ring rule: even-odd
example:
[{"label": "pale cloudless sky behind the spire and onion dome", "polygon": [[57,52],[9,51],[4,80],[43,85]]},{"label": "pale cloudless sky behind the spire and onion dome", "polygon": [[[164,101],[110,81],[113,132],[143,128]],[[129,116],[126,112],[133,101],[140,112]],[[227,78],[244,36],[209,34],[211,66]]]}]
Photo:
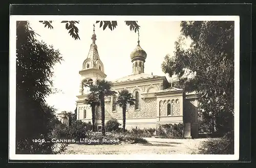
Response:
[{"label": "pale cloudless sky behind the spire and onion dome", "polygon": [[[65,23],[53,21],[53,30],[44,27],[38,21],[30,21],[32,29],[40,35],[38,40],[43,40],[48,45],[59,49],[63,61],[54,67],[54,88],[61,90],[57,94],[50,95],[46,100],[58,111],[74,111],[77,95],[79,95],[80,74],[82,63],[87,58],[93,23],[91,20],[80,20],[77,24],[80,40],[73,39],[65,29]],[[163,75],[161,63],[166,54],[173,54],[175,41],[180,36],[180,21],[140,21],[140,46],[147,53],[144,72],[154,75]],[[117,21],[114,31],[99,28],[95,24],[96,44],[99,58],[104,64],[106,80],[113,80],[132,74],[130,53],[137,46],[138,34],[130,31],[130,27],[124,21]]]}]

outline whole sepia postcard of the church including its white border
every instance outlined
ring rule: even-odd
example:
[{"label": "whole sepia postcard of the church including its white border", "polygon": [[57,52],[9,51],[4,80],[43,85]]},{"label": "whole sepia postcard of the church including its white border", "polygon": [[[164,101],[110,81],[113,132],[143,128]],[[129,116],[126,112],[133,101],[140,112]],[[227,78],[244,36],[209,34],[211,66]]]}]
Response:
[{"label": "whole sepia postcard of the church including its white border", "polygon": [[239,16],[10,27],[10,159],[239,159]]}]

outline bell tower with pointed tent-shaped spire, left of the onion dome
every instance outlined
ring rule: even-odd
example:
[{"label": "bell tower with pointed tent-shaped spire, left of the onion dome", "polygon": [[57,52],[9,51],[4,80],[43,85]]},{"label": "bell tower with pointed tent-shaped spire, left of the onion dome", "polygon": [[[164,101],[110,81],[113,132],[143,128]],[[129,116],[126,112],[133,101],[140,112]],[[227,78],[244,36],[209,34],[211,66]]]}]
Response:
[{"label": "bell tower with pointed tent-shaped spire, left of the onion dome", "polygon": [[97,49],[97,45],[95,43],[96,34],[95,34],[95,25],[93,24],[93,35],[92,35],[92,44],[90,46],[90,50],[87,56],[87,59],[82,63],[82,70],[79,71],[81,75],[80,81],[80,95],[89,94],[90,88],[84,87],[83,84],[87,83],[95,83],[97,79],[104,79],[106,74],[104,73],[103,63],[99,59],[99,53]]}]

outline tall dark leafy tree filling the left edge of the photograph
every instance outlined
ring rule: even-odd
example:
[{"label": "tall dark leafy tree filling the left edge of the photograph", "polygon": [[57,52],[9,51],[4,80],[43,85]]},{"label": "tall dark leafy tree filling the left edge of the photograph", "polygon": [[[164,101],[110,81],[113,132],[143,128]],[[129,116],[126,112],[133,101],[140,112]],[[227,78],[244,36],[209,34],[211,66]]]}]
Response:
[{"label": "tall dark leafy tree filling the left edge of the photograph", "polygon": [[16,22],[16,153],[54,153],[48,139],[54,126],[54,109],[45,97],[53,92],[52,68],[62,58],[58,50],[39,42],[29,22]]}]

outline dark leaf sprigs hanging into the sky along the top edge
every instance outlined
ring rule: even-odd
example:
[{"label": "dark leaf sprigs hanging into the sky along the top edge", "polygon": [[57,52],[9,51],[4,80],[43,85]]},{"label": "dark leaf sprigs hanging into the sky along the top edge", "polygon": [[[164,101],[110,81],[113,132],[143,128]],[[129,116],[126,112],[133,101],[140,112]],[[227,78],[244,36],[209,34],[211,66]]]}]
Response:
[{"label": "dark leaf sprigs hanging into the sky along the top edge", "polygon": [[[53,29],[53,26],[52,26],[52,21],[39,21],[43,24],[45,24],[45,27],[48,26],[48,28],[50,29]],[[130,30],[131,31],[134,31],[135,33],[136,32],[139,32],[139,25],[138,25],[138,21],[124,21],[125,24],[127,26],[130,26]],[[76,26],[76,23],[79,23],[79,21],[61,21],[61,23],[66,23],[65,24],[65,27],[67,30],[69,30],[69,34],[70,36],[72,36],[72,38],[74,38],[75,40],[79,39],[80,40],[80,37],[79,37],[79,30],[78,30],[78,27]],[[117,26],[117,21],[96,21],[96,23],[99,23],[99,27],[102,27],[103,25],[103,31],[106,29],[106,27],[109,27],[109,29],[111,31],[113,31],[116,26]]]}]

